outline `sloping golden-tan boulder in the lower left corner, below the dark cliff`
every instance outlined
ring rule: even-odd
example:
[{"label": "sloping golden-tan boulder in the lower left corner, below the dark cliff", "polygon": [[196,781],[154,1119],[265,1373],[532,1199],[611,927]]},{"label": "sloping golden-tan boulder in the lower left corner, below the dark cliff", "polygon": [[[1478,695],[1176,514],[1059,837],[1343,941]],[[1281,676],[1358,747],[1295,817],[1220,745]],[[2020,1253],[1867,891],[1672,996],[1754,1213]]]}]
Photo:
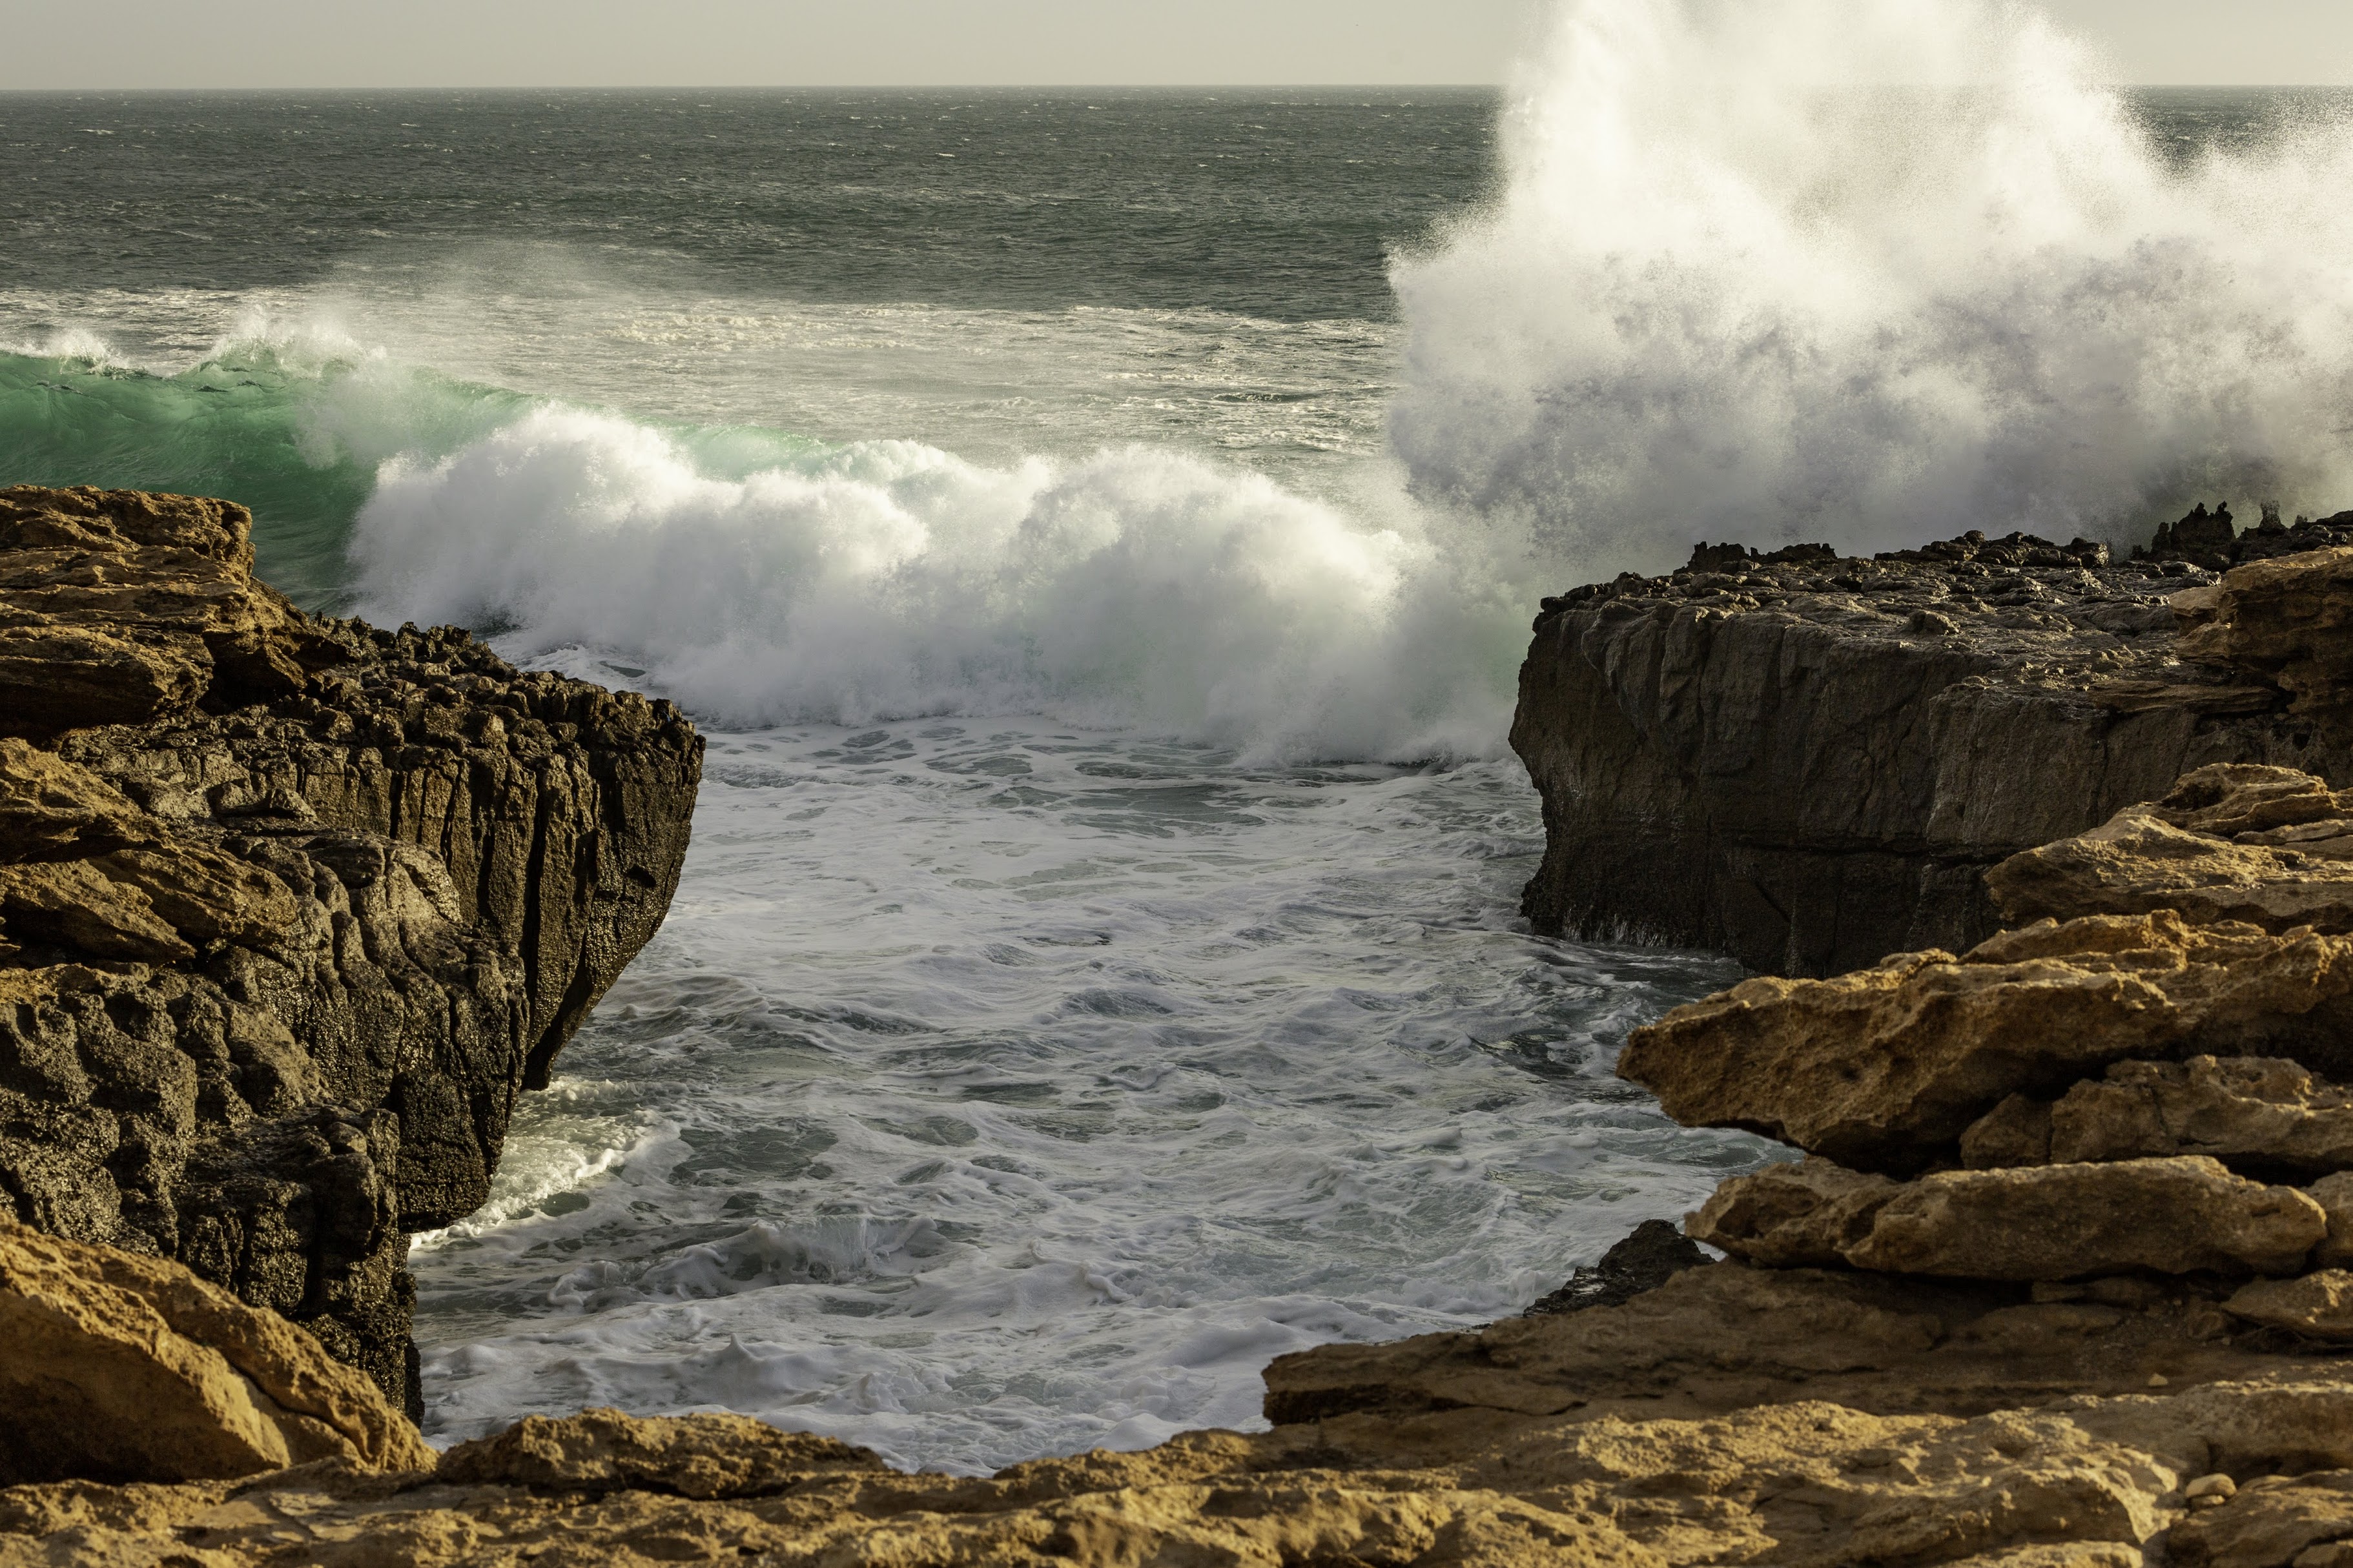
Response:
[{"label": "sloping golden-tan boulder in the lower left corner, below the dark cliff", "polygon": [[320,1458],[431,1469],[360,1373],[188,1269],[0,1220],[0,1476],[188,1481]]}]

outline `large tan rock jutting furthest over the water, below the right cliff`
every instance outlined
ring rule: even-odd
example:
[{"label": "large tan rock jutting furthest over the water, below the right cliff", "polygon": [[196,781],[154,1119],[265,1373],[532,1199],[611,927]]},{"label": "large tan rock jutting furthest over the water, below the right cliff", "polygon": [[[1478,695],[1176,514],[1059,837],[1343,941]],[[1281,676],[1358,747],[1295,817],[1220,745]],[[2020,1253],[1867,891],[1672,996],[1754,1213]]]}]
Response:
[{"label": "large tan rock jutting furthest over the water, below the right cliff", "polygon": [[2339,1060],[2353,940],[2085,917],[1965,957],[1833,980],[1753,978],[1635,1030],[1619,1077],[1685,1126],[1739,1126],[1847,1166],[1918,1171],[2012,1093],[2186,1051]]}]

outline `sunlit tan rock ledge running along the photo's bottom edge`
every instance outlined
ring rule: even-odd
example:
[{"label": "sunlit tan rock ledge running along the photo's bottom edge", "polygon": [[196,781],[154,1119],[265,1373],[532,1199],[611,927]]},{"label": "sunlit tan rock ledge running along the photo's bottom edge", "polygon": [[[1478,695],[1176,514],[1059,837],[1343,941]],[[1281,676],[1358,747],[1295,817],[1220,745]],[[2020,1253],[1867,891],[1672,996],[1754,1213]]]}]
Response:
[{"label": "sunlit tan rock ledge running along the photo's bottom edge", "polygon": [[[1972,1418],[1875,1415],[1826,1399],[1701,1420],[1482,1406],[1351,1413],[972,1479],[866,1465],[732,1472],[722,1497],[687,1495],[699,1488],[680,1474],[736,1450],[725,1418],[682,1418],[668,1434],[633,1434],[616,1415],[579,1420],[600,1436],[546,1422],[541,1439],[567,1453],[581,1441],[640,1455],[638,1486],[522,1486],[461,1479],[452,1465],[374,1476],[341,1460],[240,1483],[19,1486],[0,1490],[0,1563],[2285,1563],[2252,1556],[2254,1542],[2292,1540],[2282,1521],[2297,1509],[2306,1526],[2294,1549],[2334,1540],[2313,1493],[2353,1462],[2353,1385],[2325,1378],[2073,1396]],[[668,1469],[666,1453],[685,1472]],[[2238,1495],[2193,1507],[2193,1486],[2214,1495],[2217,1476],[2231,1474],[2245,1476]],[[2184,1549],[2209,1556],[2181,1559]]]}]

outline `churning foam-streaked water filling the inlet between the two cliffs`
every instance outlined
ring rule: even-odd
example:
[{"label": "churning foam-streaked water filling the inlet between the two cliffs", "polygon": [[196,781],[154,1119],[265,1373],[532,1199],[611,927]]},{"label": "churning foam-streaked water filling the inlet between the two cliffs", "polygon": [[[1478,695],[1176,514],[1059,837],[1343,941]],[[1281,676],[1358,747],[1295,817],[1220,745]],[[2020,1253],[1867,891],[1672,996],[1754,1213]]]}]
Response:
[{"label": "churning foam-streaked water filling the inlet between the two cliffs", "polygon": [[414,1258],[435,1441],[1247,1427],[1271,1356],[1513,1312],[1765,1152],[1609,1077],[1732,971],[1520,931],[1513,764],[918,719],[711,736],[706,778],[661,936]]}]

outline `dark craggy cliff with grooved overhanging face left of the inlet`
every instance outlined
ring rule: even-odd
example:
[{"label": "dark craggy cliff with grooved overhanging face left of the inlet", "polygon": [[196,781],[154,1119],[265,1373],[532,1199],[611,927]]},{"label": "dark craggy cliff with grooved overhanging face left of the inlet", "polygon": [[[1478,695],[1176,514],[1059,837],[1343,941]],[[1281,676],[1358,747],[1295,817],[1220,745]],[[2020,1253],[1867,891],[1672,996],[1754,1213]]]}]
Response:
[{"label": "dark craggy cliff with grooved overhanging face left of the inlet", "polygon": [[475,1208],[678,884],[701,738],[459,630],[306,616],[242,508],[0,491],[0,1192],[414,1401]]}]

